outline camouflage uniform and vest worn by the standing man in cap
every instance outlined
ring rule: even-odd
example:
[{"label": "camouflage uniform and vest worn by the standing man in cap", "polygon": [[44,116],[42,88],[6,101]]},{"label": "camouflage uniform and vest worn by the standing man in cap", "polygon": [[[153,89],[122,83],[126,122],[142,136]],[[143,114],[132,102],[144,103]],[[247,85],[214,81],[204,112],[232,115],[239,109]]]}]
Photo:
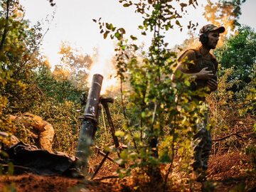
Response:
[{"label": "camouflage uniform and vest worn by the standing man in cap", "polygon": [[[191,60],[192,63],[182,63],[185,58]],[[201,55],[199,48],[186,50],[183,55],[179,58],[179,61],[186,65],[182,68],[183,73],[198,73],[203,68],[208,68],[214,74],[214,79],[217,80],[216,72],[218,68],[218,62],[215,56],[208,53],[208,55]],[[199,90],[201,88],[207,87],[207,80],[195,80],[191,84],[191,90]],[[205,101],[205,97],[194,96],[197,100]],[[207,109],[207,104],[203,102],[203,106]],[[207,111],[207,110],[206,110]],[[196,124],[197,132],[193,136],[193,170],[203,170],[208,169],[208,158],[210,155],[210,149],[212,145],[211,134],[208,129],[206,129],[208,124],[208,112],[205,113],[204,117],[199,119],[199,123]]]}]

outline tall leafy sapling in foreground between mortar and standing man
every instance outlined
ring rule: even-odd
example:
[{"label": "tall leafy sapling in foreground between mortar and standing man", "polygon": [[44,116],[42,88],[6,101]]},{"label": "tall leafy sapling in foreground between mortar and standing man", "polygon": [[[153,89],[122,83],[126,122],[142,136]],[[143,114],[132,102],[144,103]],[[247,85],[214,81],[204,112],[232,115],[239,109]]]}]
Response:
[{"label": "tall leafy sapling in foreground between mortar and standing man", "polygon": [[[177,74],[179,82],[172,82],[170,78],[177,60],[176,53],[166,49],[168,43],[164,42],[164,32],[174,28],[174,25],[182,30],[179,22],[181,13],[174,9],[171,1],[120,2],[124,7],[136,7],[136,12],[144,17],[143,24],[139,26],[142,35],[152,32],[154,37],[148,51],[137,53],[138,46],[124,38],[122,28],[95,20],[104,38],[110,34],[110,38],[117,39],[117,75],[122,82],[128,81],[130,85],[121,97],[126,122],[116,133],[128,144],[118,161],[129,163],[129,168],[119,170],[119,173],[129,174],[131,169],[139,167],[154,179],[159,176],[159,164],[174,160],[175,147],[179,148],[178,154],[185,163],[184,167],[188,167],[190,140],[196,132],[194,122],[205,109],[198,107],[198,102],[191,98],[193,93],[188,89],[190,80],[186,75]],[[196,1],[188,1],[188,4],[195,6]],[[181,12],[186,5],[180,4]],[[189,26],[196,25],[190,22]],[[134,36],[130,38],[136,40]],[[124,98],[129,100],[129,105],[124,105]]]}]

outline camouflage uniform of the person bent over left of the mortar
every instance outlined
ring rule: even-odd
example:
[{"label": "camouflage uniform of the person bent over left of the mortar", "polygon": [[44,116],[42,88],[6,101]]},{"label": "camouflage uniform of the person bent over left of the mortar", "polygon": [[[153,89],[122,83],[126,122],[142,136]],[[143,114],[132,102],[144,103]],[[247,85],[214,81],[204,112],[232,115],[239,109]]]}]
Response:
[{"label": "camouflage uniform of the person bent over left of the mortar", "polygon": [[52,150],[54,129],[51,124],[41,117],[31,113],[24,113],[14,118],[16,124],[20,124],[26,129],[31,129],[31,135],[38,138],[39,148]]}]

